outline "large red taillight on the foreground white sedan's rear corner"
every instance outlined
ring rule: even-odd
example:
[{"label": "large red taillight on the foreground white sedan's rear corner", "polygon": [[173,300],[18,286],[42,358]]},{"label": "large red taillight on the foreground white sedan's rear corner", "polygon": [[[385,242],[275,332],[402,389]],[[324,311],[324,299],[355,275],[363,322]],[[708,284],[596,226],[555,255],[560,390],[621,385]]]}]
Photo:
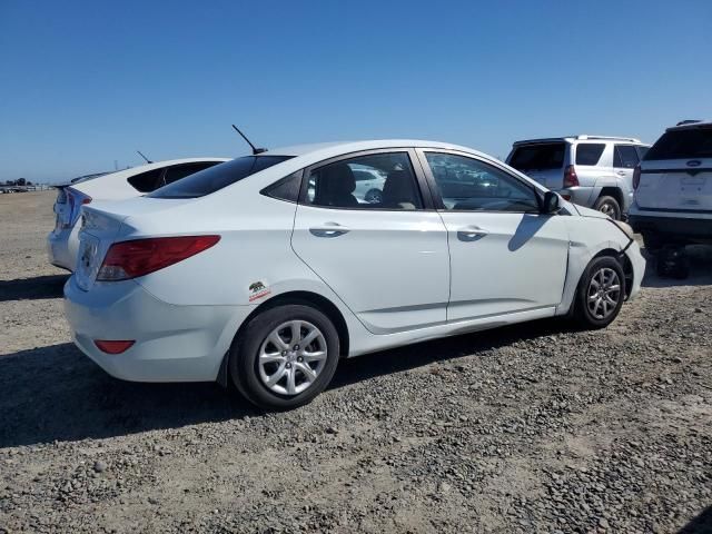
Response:
[{"label": "large red taillight on the foreground white sedan's rear corner", "polygon": [[177,264],[210,248],[220,236],[180,236],[115,243],[97,280],[127,280]]}]

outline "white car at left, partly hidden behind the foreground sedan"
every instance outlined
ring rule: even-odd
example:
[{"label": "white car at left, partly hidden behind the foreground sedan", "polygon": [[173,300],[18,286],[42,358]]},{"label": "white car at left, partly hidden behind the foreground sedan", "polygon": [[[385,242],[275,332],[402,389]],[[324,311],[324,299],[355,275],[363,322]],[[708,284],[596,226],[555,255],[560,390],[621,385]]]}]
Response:
[{"label": "white car at left, partly hidden behind the foreground sedan", "polygon": [[81,177],[56,186],[55,229],[47,236],[50,264],[75,270],[79,247],[77,220],[81,206],[95,200],[120,200],[151,192],[180,178],[228,161],[228,158],[188,158],[151,162],[111,174]]}]

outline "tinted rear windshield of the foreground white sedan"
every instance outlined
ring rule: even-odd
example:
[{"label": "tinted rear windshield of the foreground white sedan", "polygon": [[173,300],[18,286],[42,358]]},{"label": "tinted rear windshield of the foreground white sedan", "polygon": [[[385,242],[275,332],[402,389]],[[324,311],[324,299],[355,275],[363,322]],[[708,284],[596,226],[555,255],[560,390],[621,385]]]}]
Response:
[{"label": "tinted rear windshield of the foreground white sedan", "polygon": [[201,170],[148,195],[151,198],[197,198],[291,159],[291,156],[245,156]]}]

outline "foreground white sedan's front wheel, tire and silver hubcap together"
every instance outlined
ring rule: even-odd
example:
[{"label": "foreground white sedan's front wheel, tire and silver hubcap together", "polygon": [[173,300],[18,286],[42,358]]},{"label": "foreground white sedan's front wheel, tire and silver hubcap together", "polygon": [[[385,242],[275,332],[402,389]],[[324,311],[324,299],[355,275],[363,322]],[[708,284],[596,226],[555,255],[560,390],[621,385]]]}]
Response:
[{"label": "foreground white sedan's front wheel, tire and silver hubcap together", "polygon": [[[600,286],[599,289],[596,285]],[[612,289],[615,286],[617,291]],[[596,296],[597,299],[592,300]],[[576,288],[574,318],[587,329],[605,328],[617,317],[623,300],[625,276],[619,260],[610,256],[594,258],[586,266]]]}]

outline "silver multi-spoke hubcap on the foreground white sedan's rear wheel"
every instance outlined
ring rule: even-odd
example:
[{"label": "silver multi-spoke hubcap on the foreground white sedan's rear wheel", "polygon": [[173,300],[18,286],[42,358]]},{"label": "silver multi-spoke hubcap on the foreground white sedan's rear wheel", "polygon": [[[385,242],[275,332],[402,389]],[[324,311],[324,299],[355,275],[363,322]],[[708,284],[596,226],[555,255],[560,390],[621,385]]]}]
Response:
[{"label": "silver multi-spoke hubcap on the foreground white sedan's rear wheel", "polygon": [[306,320],[283,323],[259,348],[259,378],[274,393],[298,395],[314,384],[326,357],[326,338],[316,326]]}]

